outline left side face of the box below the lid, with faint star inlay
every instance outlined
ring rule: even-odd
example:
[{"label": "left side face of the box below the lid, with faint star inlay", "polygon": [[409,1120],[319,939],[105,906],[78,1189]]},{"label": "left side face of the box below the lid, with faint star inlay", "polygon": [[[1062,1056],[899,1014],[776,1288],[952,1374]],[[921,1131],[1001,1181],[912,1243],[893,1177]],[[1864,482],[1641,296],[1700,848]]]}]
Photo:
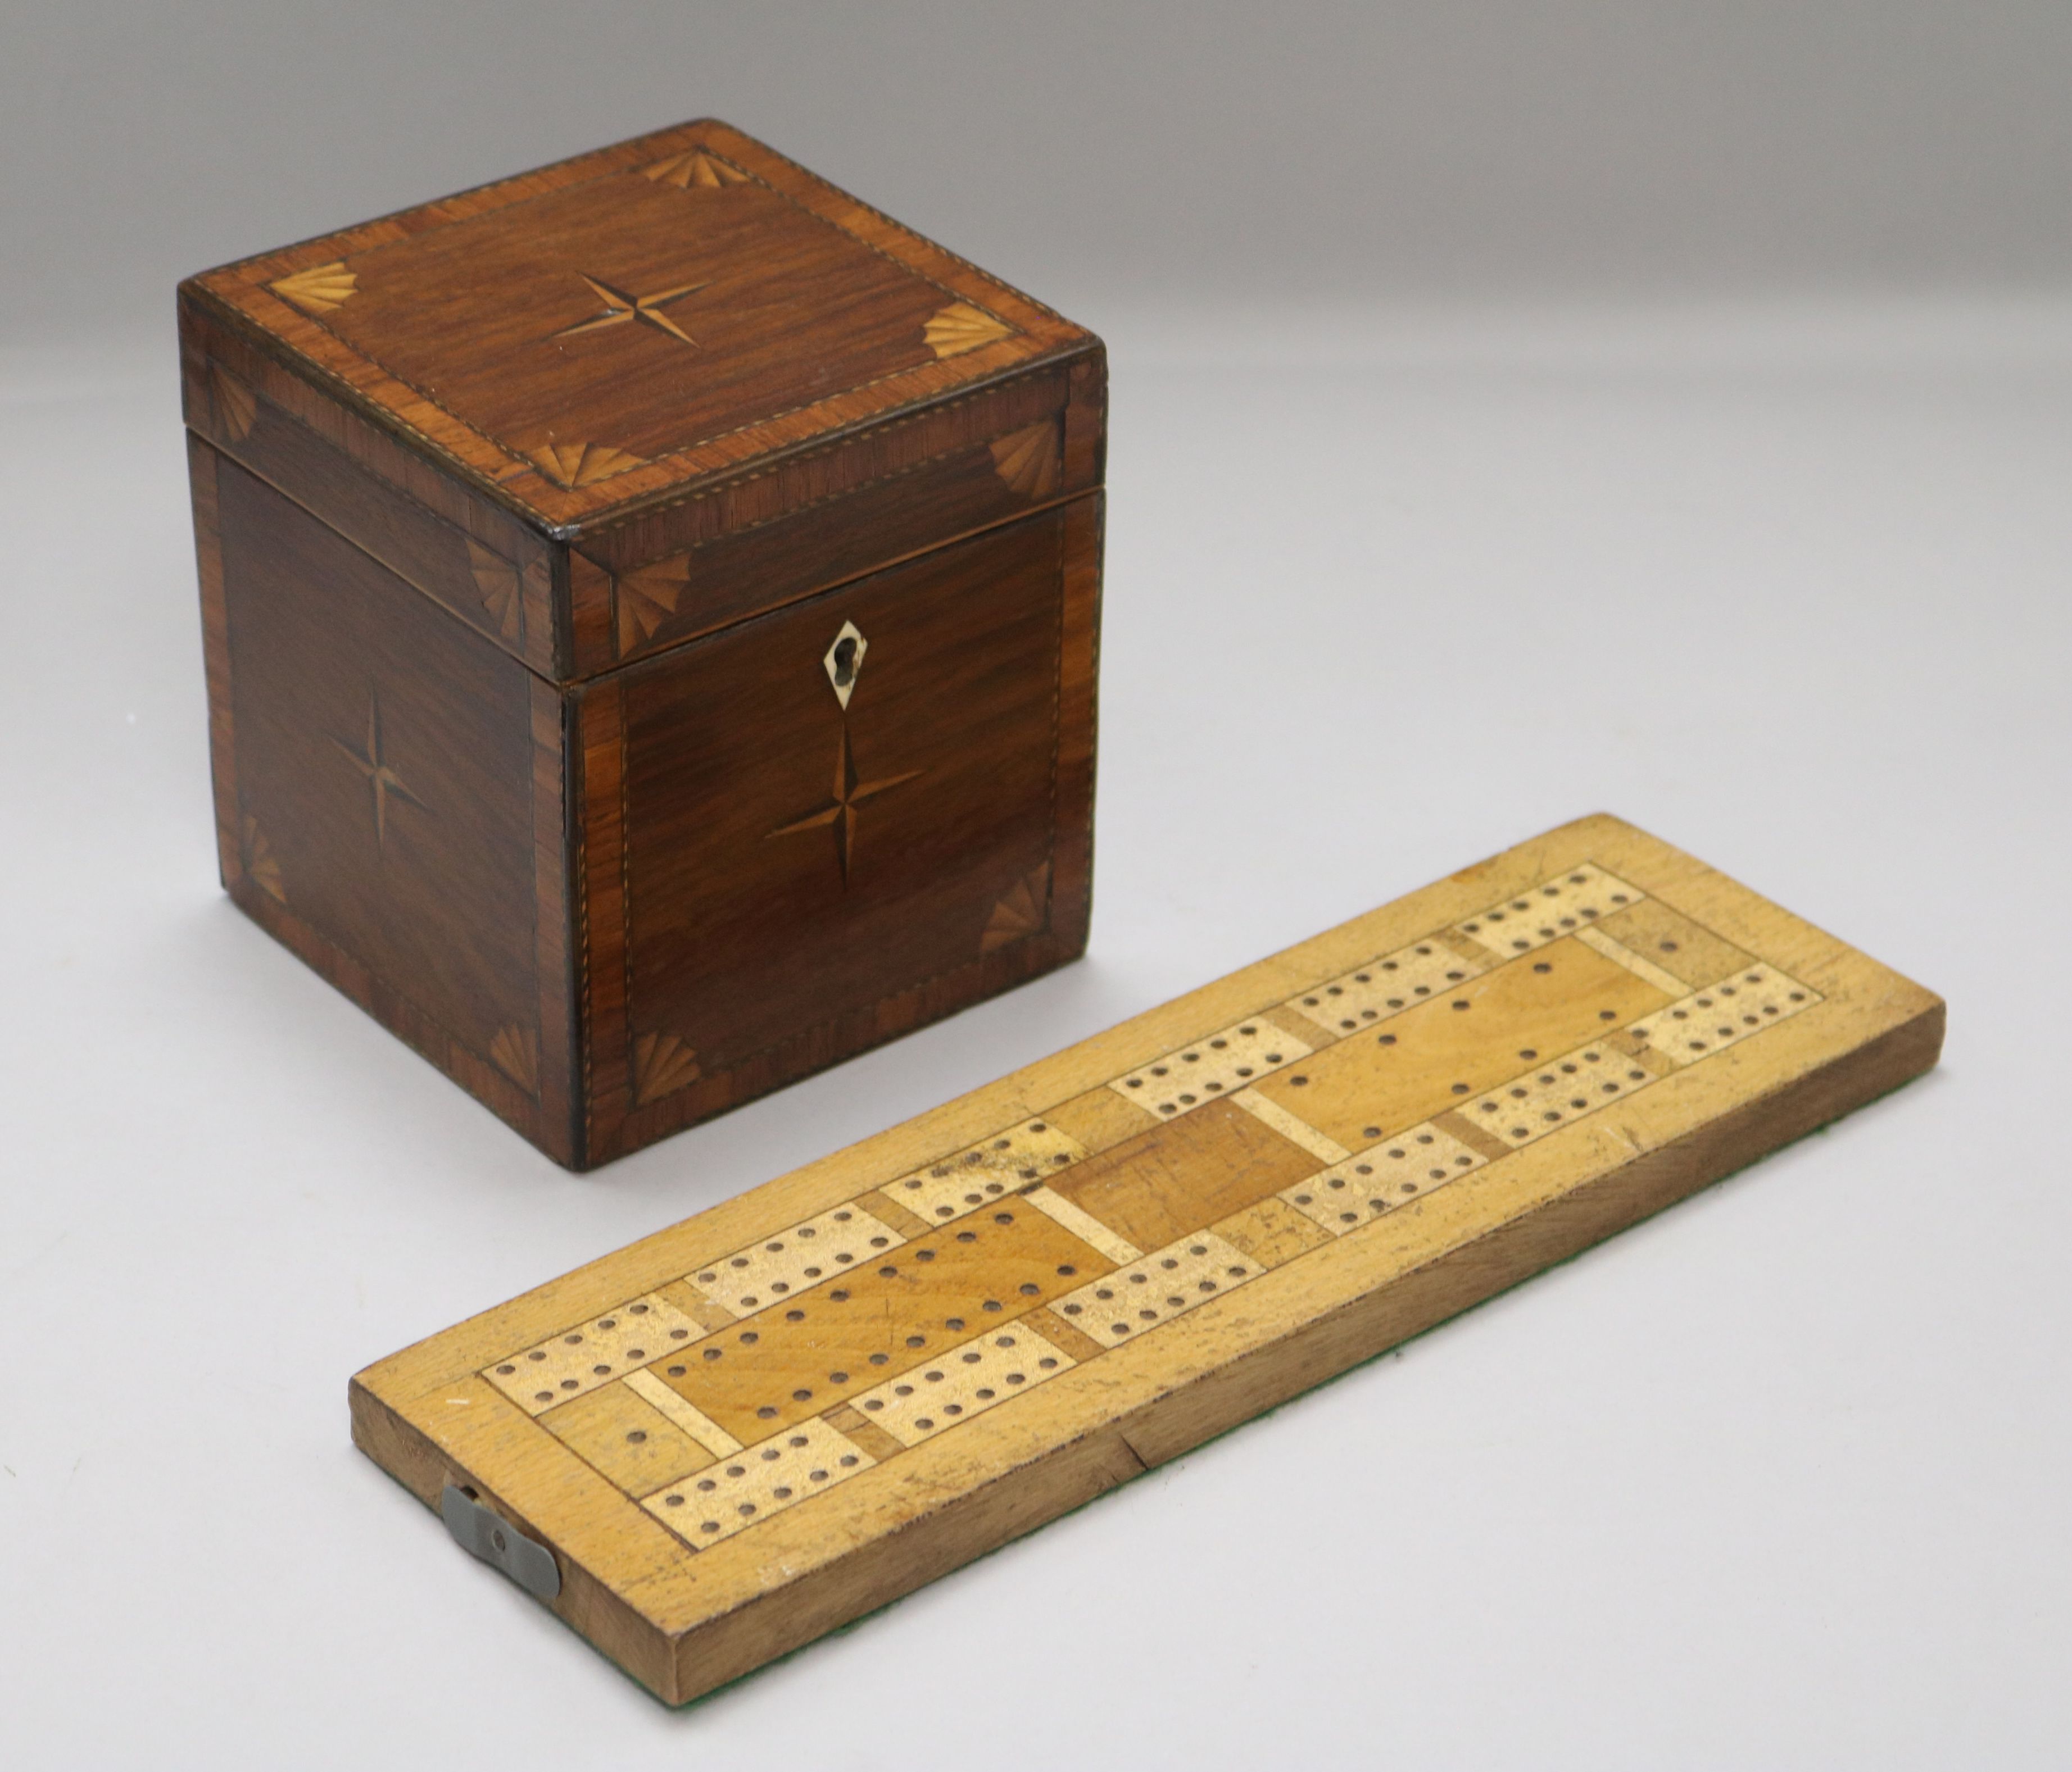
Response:
[{"label": "left side face of the box below the lid, with faint star inlay", "polygon": [[236,736],[218,777],[232,897],[572,1161],[559,692],[265,481],[195,454],[197,491],[213,485],[211,701]]}]

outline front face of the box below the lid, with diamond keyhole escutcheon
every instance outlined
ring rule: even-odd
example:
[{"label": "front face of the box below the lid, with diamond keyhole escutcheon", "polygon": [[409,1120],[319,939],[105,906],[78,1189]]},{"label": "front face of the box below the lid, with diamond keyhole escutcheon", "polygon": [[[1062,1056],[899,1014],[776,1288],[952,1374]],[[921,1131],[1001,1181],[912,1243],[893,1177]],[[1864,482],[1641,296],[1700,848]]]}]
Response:
[{"label": "front face of the box below the lid, with diamond keyhole escutcheon", "polygon": [[1042,512],[626,671],[609,761],[586,705],[624,846],[588,924],[605,887],[626,931],[588,953],[593,1156],[1077,951],[1092,535]]}]

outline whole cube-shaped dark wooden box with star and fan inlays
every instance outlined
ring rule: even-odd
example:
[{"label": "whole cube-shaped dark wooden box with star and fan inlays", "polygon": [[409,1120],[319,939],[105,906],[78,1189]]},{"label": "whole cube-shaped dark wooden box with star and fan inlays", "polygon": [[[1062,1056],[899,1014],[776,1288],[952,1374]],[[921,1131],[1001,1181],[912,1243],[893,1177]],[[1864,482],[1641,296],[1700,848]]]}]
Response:
[{"label": "whole cube-shaped dark wooden box with star and fan inlays", "polygon": [[224,885],[588,1167],[1086,945],[1100,340],[719,122],[180,286]]}]

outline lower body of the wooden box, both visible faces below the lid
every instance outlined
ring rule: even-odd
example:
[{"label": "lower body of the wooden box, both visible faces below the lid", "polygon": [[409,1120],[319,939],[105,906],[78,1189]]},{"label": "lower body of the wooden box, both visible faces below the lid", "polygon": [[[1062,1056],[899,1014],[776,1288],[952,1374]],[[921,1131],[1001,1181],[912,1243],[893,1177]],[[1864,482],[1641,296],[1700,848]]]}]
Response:
[{"label": "lower body of the wooden box, both visible faces below the lid", "polygon": [[576,688],[199,441],[195,499],[232,897],[557,1161],[1084,951],[1098,495]]}]

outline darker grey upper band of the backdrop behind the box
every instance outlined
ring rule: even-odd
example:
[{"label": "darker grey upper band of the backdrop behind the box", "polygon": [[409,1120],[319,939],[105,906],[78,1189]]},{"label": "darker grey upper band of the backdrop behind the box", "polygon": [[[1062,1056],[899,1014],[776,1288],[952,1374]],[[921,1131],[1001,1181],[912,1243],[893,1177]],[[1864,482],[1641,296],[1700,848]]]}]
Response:
[{"label": "darker grey upper band of the backdrop behind the box", "polygon": [[1067,313],[2057,286],[2055,0],[0,6],[0,336],[717,114]]}]

